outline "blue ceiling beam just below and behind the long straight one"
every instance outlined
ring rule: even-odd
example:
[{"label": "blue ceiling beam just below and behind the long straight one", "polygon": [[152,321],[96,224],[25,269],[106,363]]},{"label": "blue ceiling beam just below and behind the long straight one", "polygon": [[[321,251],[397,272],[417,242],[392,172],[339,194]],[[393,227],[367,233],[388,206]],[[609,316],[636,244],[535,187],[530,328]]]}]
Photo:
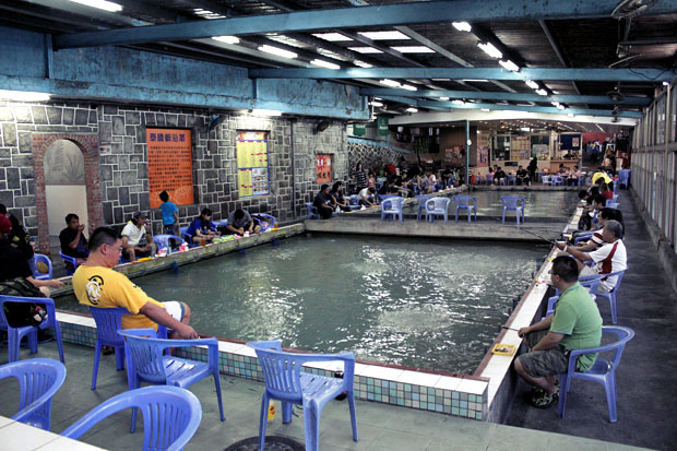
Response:
[{"label": "blue ceiling beam just below and behind the long straight one", "polygon": [[596,95],[562,95],[553,94],[548,96],[542,96],[538,94],[525,94],[525,93],[503,93],[503,92],[475,92],[475,91],[446,91],[446,90],[419,90],[407,91],[396,90],[389,87],[370,88],[365,87],[359,91],[360,95],[367,96],[390,96],[396,95],[402,97],[450,97],[450,98],[472,98],[480,100],[511,100],[511,102],[559,102],[566,104],[595,104],[595,105],[631,105],[631,106],[646,106],[651,104],[651,98],[645,97],[626,97],[622,102],[614,102],[607,96]]}]

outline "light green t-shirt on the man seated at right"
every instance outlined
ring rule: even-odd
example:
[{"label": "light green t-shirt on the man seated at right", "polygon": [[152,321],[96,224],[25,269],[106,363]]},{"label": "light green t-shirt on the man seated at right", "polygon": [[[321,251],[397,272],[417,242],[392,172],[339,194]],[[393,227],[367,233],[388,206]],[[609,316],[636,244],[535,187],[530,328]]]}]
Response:
[{"label": "light green t-shirt on the man seated at right", "polygon": [[[565,334],[559,343],[567,349],[599,346],[602,316],[599,316],[599,310],[592,296],[581,284],[577,283],[559,296],[550,332]],[[596,359],[597,354],[579,356],[577,369],[587,371]]]}]

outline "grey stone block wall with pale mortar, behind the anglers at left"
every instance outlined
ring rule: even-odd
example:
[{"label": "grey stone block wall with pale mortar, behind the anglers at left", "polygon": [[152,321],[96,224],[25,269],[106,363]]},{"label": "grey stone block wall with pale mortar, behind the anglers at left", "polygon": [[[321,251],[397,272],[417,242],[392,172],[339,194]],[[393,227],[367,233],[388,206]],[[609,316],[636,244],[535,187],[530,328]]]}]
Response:
[{"label": "grey stone block wall with pale mortar, behind the anglers at left", "polygon": [[[40,151],[36,145],[51,142],[44,135],[50,134],[74,141],[83,152],[96,152],[87,151],[93,149],[88,141],[94,133],[99,150],[111,147],[110,154],[97,155],[99,177],[93,182],[100,190],[100,198],[96,197],[100,205],[94,207],[100,209],[100,213],[94,217],[100,219],[96,225],[121,227],[134,211],[150,212],[146,127],[192,131],[195,203],[179,206],[182,226],[202,207],[210,207],[216,219],[238,207],[270,213],[278,221],[306,215],[305,202],[311,202],[319,190],[316,153],[332,154],[334,178],[347,180],[348,145],[342,121],[334,120],[326,130],[317,132],[314,118],[222,112],[226,120],[207,133],[210,115],[211,111],[201,109],[115,104],[0,103],[0,203],[24,222],[32,236],[46,241],[46,233],[38,233],[38,224],[46,225],[39,221],[41,213],[38,214],[36,197],[35,168],[40,170],[41,161],[37,165],[34,161],[34,157],[43,158],[45,149]],[[238,195],[238,131],[269,132],[269,195]],[[43,213],[46,217],[46,212]],[[158,210],[150,213],[157,233],[162,216]],[[48,252],[48,245],[41,242],[40,250]]]}]

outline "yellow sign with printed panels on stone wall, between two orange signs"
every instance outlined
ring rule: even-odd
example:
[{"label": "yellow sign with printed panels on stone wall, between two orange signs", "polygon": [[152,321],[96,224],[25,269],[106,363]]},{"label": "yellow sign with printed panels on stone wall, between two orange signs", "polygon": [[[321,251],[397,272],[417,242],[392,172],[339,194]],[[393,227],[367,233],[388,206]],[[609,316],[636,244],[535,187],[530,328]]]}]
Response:
[{"label": "yellow sign with printed panels on stone wall, between two orange signs", "polygon": [[268,132],[237,132],[236,152],[238,195],[246,198],[270,194]]}]

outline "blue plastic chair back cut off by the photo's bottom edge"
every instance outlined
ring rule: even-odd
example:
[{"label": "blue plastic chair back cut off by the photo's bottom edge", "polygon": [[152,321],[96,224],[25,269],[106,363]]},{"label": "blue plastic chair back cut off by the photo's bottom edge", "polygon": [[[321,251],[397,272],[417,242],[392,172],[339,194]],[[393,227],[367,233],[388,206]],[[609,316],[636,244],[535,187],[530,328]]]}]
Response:
[{"label": "blue plastic chair back cut off by the photo's bottom edge", "polygon": [[127,408],[141,410],[144,451],[181,450],[200,427],[198,397],[178,387],[144,387],[120,393],[87,412],[62,437],[79,439],[96,424]]}]

